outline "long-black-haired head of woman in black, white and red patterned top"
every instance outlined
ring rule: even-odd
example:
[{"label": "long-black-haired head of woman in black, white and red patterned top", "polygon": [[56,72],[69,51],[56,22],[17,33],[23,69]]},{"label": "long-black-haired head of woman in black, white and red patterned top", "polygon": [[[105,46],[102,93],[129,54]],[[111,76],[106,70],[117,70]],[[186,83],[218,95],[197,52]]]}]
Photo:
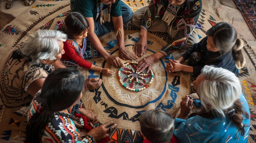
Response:
[{"label": "long-black-haired head of woman in black, white and red patterned top", "polygon": [[[71,107],[81,99],[85,77],[74,68],[60,68],[48,75],[39,98],[45,112],[56,112]],[[54,101],[54,102],[53,102]]]}]

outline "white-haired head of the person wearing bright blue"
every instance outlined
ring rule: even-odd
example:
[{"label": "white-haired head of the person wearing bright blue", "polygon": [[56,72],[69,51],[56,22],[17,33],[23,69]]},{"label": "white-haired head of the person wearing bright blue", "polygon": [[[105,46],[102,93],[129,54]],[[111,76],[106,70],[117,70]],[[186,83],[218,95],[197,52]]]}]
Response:
[{"label": "white-haired head of the person wearing bright blue", "polygon": [[204,66],[193,85],[205,110],[212,110],[219,117],[225,117],[225,110],[242,94],[239,79],[224,68]]}]

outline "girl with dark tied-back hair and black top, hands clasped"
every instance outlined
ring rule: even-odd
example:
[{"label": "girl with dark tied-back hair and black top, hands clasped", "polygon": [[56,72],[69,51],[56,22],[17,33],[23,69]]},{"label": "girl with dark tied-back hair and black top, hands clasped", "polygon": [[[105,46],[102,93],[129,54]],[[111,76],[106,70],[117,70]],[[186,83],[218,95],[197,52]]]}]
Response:
[{"label": "girl with dark tied-back hair and black top, hands clasped", "polygon": [[[205,65],[225,68],[238,76],[238,69],[245,66],[242,54],[243,41],[237,38],[234,27],[227,22],[220,22],[207,31],[207,36],[193,44],[179,59],[171,60],[166,65],[168,72],[185,71],[195,75]],[[188,65],[180,64],[189,58]]]}]

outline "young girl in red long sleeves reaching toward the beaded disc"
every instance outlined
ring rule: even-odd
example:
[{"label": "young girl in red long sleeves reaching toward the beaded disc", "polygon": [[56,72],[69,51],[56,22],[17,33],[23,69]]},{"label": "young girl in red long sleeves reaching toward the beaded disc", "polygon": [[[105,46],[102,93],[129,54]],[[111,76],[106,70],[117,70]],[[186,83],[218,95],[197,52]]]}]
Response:
[{"label": "young girl in red long sleeves reaching toward the beaded disc", "polygon": [[67,34],[68,39],[64,42],[65,54],[62,55],[61,61],[67,67],[81,66],[103,73],[103,75],[113,75],[114,71],[98,67],[85,60],[99,57],[99,52],[90,43],[87,43],[89,24],[85,17],[81,13],[71,12],[65,18],[64,23],[63,32]]}]

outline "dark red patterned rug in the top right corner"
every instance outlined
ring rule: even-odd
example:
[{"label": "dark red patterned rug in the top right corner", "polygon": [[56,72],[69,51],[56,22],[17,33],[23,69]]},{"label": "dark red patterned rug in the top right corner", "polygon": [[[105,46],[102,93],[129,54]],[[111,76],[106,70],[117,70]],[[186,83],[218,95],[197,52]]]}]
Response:
[{"label": "dark red patterned rug in the top right corner", "polygon": [[256,2],[255,0],[234,0],[252,33],[256,37]]}]

